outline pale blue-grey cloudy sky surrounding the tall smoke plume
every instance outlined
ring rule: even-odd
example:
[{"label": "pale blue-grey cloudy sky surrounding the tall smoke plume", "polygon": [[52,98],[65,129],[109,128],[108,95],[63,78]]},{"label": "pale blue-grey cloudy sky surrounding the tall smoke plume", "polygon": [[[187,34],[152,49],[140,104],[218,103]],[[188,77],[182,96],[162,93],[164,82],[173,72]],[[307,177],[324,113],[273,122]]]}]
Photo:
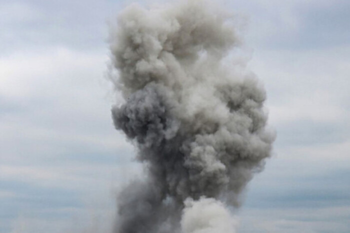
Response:
[{"label": "pale blue-grey cloudy sky surrounding the tall smoke plume", "polygon": [[[142,178],[106,78],[108,22],[130,2],[0,0],[0,233],[108,232],[117,191]],[[277,133],[239,233],[350,232],[350,1],[221,4]]]}]

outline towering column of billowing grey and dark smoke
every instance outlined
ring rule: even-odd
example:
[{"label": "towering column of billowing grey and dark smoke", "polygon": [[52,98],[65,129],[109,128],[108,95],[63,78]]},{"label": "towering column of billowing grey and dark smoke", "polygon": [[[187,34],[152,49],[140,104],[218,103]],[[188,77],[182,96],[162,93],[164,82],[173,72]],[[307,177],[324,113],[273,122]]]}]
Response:
[{"label": "towering column of billowing grey and dark smoke", "polygon": [[240,39],[227,14],[192,0],[126,7],[111,28],[112,118],[144,179],[118,196],[114,233],[234,233],[230,208],[269,157],[266,98],[225,62]]}]

